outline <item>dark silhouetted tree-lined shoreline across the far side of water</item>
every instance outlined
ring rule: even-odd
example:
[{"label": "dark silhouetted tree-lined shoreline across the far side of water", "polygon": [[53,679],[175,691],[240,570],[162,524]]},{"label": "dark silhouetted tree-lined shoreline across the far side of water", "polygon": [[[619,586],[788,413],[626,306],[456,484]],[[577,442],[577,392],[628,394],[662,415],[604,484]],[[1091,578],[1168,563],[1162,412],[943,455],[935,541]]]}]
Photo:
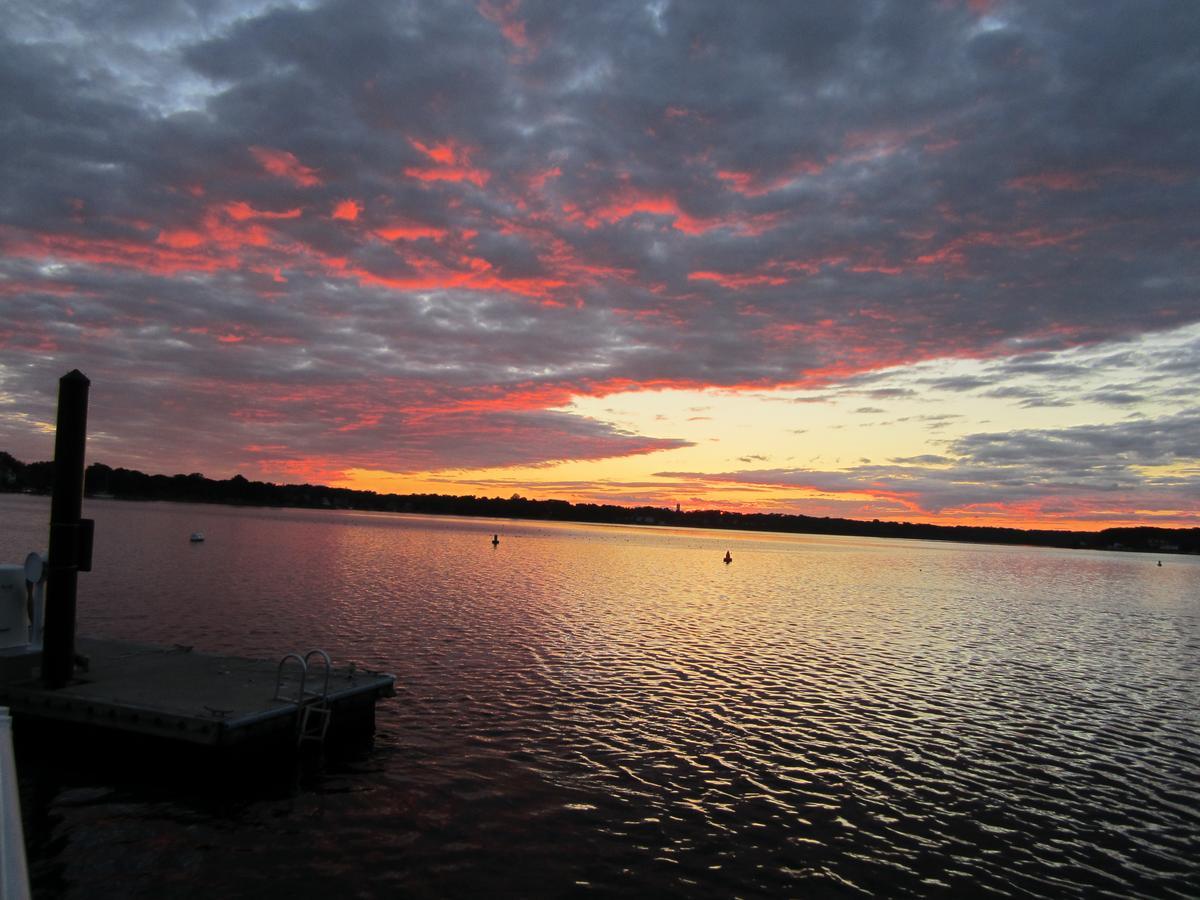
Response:
[{"label": "dark silhouetted tree-lined shoreline across the far side of water", "polygon": [[[22,463],[0,451],[0,492],[48,494],[53,463]],[[88,467],[85,493],[118,500],[174,500],[226,506],[356,510],[361,512],[416,512],[434,516],[552,522],[607,523],[706,528],[713,530],[772,532],[779,534],[833,534],[856,538],[904,538],[961,544],[1026,545],[1064,550],[1117,550],[1141,553],[1200,553],[1200,528],[1153,526],[1105,528],[1099,532],[1021,529],[990,526],[936,526],[916,522],[866,522],[780,512],[727,512],[725,510],[672,510],[661,506],[532,500],[514,494],[456,497],[450,494],[380,494],[324,485],[275,485],[241,475],[215,480],[190,475],[146,475],[134,469]]]}]

